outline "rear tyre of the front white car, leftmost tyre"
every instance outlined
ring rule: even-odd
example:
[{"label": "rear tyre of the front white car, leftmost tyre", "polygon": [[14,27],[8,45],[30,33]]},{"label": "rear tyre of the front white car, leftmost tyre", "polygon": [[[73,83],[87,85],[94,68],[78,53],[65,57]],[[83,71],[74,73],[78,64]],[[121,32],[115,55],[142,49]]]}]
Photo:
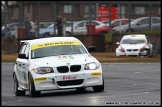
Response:
[{"label": "rear tyre of the front white car, leftmost tyre", "polygon": [[18,90],[19,84],[16,78],[16,75],[14,74],[14,92],[16,96],[24,96],[25,95],[25,91],[22,90]]}]

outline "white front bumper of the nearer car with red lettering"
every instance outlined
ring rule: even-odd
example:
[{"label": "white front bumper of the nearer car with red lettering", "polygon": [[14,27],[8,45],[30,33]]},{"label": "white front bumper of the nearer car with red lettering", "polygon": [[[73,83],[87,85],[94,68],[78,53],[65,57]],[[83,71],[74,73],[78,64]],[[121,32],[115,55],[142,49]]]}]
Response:
[{"label": "white front bumper of the nearer car with red lettering", "polygon": [[103,84],[101,71],[81,71],[75,73],[50,73],[33,78],[36,91],[89,87]]}]

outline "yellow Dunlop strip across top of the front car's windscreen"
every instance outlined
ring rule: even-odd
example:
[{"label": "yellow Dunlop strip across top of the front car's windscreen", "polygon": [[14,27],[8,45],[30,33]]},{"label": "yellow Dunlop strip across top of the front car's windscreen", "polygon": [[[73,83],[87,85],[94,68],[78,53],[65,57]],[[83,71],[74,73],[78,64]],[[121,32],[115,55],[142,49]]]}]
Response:
[{"label": "yellow Dunlop strip across top of the front car's windscreen", "polygon": [[61,45],[80,45],[79,41],[60,41],[60,42],[47,42],[42,44],[32,45],[32,50],[49,47],[49,46],[61,46]]}]

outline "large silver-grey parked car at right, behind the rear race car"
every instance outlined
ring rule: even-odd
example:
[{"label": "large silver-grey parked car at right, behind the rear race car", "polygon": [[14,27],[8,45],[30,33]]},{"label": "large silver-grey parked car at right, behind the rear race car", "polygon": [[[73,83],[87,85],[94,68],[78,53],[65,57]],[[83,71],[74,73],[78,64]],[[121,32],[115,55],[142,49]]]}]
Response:
[{"label": "large silver-grey parked car at right, behind the rear race car", "polygon": [[[151,17],[152,29],[161,30],[161,18]],[[130,23],[130,32],[147,31],[150,30],[150,17],[137,18]],[[129,24],[115,27],[112,33],[127,33],[129,32]]]}]

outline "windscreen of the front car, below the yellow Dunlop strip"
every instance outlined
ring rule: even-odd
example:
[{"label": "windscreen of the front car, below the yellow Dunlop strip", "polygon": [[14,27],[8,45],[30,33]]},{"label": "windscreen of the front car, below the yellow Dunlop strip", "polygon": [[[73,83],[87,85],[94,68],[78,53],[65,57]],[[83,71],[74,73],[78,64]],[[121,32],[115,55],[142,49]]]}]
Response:
[{"label": "windscreen of the front car, below the yellow Dunlop strip", "polygon": [[56,45],[32,49],[31,58],[87,53],[82,45]]}]

